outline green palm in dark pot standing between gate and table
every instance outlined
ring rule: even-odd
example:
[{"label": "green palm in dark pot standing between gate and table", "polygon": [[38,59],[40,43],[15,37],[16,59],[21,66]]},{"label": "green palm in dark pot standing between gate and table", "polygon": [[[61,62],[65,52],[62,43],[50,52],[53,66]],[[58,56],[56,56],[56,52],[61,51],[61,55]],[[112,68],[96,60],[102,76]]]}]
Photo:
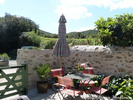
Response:
[{"label": "green palm in dark pot standing between gate and table", "polygon": [[40,64],[35,70],[40,78],[40,81],[37,82],[38,93],[46,93],[48,88],[48,78],[50,77],[50,64]]}]

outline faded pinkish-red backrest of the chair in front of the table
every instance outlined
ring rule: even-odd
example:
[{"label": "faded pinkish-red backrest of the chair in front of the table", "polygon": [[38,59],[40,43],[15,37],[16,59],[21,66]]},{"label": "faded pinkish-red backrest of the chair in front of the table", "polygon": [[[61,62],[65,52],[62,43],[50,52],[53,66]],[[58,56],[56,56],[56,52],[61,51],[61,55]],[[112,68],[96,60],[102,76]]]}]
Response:
[{"label": "faded pinkish-red backrest of the chair in front of the table", "polygon": [[61,76],[57,76],[58,78],[58,83],[61,85],[64,85],[65,87],[74,87],[74,82],[71,78],[67,78],[67,77],[61,77]]}]

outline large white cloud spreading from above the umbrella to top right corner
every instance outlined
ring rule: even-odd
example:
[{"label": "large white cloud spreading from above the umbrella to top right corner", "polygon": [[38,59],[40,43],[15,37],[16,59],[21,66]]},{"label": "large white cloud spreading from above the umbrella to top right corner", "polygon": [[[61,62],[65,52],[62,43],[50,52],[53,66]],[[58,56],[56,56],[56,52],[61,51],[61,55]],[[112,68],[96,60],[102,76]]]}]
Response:
[{"label": "large white cloud spreading from above the umbrella to top right corner", "polygon": [[65,14],[67,19],[80,19],[92,16],[89,6],[105,7],[111,10],[133,8],[132,0],[60,0],[56,13]]}]

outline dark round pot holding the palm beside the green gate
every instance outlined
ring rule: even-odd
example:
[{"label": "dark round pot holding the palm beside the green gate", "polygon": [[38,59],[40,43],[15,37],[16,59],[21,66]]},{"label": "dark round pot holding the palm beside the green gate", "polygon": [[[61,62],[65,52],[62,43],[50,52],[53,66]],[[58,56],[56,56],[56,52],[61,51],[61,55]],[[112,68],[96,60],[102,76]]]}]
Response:
[{"label": "dark round pot holding the palm beside the green gate", "polygon": [[47,93],[48,89],[48,82],[37,82],[37,90],[38,93]]}]

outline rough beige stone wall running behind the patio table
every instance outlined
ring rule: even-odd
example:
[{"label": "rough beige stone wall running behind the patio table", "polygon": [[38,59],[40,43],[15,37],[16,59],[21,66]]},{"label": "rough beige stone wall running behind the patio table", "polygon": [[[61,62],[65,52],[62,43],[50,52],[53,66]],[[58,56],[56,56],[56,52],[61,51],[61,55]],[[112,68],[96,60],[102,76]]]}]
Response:
[{"label": "rough beige stone wall running behind the patio table", "polygon": [[[94,67],[95,74],[114,74],[123,76],[133,73],[133,47],[104,47],[104,46],[73,46],[71,55],[63,58],[65,72],[73,68],[77,63],[88,62]],[[29,87],[34,87],[38,77],[34,67],[38,64],[49,63],[51,68],[59,68],[59,58],[52,54],[52,50],[18,49],[17,63],[28,64]]]}]

